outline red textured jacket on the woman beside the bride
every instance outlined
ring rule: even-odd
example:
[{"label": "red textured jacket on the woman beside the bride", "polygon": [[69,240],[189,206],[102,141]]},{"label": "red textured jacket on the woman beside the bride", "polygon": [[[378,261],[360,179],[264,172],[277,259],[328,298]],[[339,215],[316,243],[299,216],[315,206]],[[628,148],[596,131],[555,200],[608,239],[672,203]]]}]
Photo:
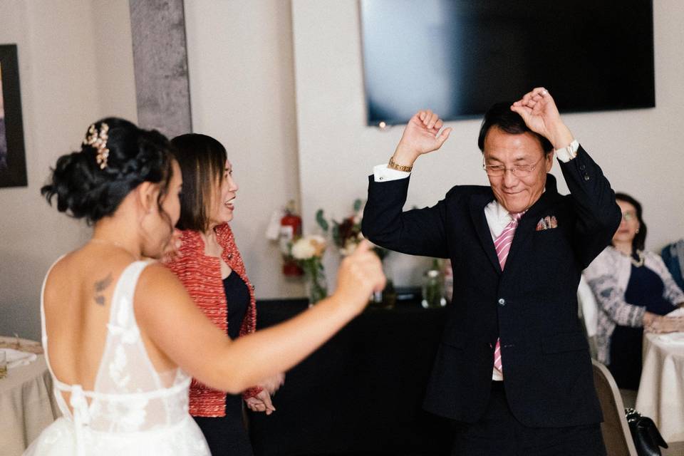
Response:
[{"label": "red textured jacket on the woman beside the bride", "polygon": [[[216,228],[216,237],[223,247],[222,258],[239,275],[249,289],[249,307],[240,327],[240,336],[253,333],[257,326],[257,306],[254,288],[247,279],[244,263],[235,245],[233,232],[228,224]],[[182,232],[181,246],[175,259],[167,264],[187,289],[192,300],[204,315],[224,333],[227,333],[229,303],[223,288],[221,264],[216,257],[204,254],[204,241],[199,232],[190,229]],[[261,388],[254,387],[242,393],[244,398],[257,395]],[[195,378],[190,384],[190,415],[219,417],[226,415],[226,393],[209,388]]]}]

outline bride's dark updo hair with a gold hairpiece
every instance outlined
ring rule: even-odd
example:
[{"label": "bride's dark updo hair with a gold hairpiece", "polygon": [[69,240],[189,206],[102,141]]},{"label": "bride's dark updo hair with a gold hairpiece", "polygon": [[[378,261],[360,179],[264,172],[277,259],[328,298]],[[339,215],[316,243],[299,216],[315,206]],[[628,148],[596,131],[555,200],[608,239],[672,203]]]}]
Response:
[{"label": "bride's dark updo hair with a gold hairpiece", "polygon": [[[103,132],[108,138],[106,165],[98,162],[96,145],[81,145],[81,150],[62,155],[52,170],[41,194],[52,204],[57,197],[57,209],[76,219],[94,224],[112,215],[131,190],[142,182],[160,185],[157,205],[168,191],[172,175],[172,145],[156,130],[142,130],[128,120],[105,118],[95,122],[95,134]],[[86,133],[86,138],[92,130]],[[101,157],[100,157],[101,158]]]}]

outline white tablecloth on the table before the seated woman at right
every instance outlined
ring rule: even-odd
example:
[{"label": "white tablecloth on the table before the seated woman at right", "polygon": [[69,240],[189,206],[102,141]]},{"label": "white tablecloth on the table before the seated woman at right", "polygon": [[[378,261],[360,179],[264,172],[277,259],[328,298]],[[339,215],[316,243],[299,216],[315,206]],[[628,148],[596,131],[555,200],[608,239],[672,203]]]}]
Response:
[{"label": "white tablecloth on the table before the seated woman at right", "polygon": [[653,418],[666,442],[684,441],[684,333],[644,334],[636,410]]}]

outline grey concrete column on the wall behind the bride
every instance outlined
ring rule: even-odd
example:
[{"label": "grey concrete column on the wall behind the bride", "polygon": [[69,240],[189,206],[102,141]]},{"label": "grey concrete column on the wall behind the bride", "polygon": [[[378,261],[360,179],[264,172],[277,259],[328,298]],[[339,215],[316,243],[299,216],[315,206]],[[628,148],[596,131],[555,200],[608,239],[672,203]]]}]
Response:
[{"label": "grey concrete column on the wall behind the bride", "polygon": [[138,125],[192,131],[183,0],[130,0]]}]

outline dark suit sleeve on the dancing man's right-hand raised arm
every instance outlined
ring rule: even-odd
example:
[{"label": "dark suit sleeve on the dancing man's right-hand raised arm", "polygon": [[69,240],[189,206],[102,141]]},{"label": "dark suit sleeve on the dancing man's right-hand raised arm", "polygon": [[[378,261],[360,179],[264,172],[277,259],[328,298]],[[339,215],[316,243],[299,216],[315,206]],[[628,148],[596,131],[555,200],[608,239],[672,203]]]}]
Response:
[{"label": "dark suit sleeve on the dancing man's right-hand raised arm", "polygon": [[610,244],[622,213],[610,182],[584,148],[579,147],[573,160],[560,165],[577,215],[574,251],[586,268]]}]

